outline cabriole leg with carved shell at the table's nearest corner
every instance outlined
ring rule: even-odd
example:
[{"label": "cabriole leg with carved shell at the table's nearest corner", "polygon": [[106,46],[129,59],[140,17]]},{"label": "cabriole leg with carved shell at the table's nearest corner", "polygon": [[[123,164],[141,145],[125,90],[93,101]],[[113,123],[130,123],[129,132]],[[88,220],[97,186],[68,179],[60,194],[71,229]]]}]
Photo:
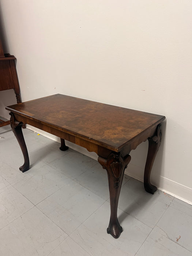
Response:
[{"label": "cabriole leg with carved shell at the table's nearest corner", "polygon": [[107,233],[111,234],[114,238],[118,238],[123,231],[117,219],[117,206],[124,170],[130,161],[130,155],[123,158],[123,155],[120,153],[110,154],[108,159],[98,157],[98,162],[108,173],[111,214]]}]

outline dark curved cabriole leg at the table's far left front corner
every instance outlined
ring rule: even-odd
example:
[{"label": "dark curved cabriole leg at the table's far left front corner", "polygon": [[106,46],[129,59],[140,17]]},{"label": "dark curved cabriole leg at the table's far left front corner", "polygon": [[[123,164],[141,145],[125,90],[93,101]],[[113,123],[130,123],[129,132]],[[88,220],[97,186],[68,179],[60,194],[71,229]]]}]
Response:
[{"label": "dark curved cabriole leg at the table's far left front corner", "polygon": [[22,122],[19,123],[18,121],[16,121],[15,116],[12,112],[10,112],[10,116],[11,116],[10,118],[11,129],[14,132],[14,135],[19,142],[19,146],[22,150],[23,157],[24,157],[24,164],[21,167],[19,167],[19,170],[24,173],[27,170],[29,170],[29,155],[27,152],[27,147],[26,147],[25,140],[23,137],[23,132],[22,132],[23,123]]}]

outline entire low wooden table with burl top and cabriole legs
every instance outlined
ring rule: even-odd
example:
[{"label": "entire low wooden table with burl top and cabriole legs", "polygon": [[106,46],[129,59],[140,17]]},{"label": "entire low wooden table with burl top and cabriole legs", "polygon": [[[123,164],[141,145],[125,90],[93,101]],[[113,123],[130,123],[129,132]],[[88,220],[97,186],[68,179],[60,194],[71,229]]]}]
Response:
[{"label": "entire low wooden table with burl top and cabriole legs", "polygon": [[124,170],[131,161],[129,153],[147,139],[144,188],[151,194],[157,190],[150,183],[150,173],[161,143],[161,122],[165,116],[61,94],[15,104],[6,109],[10,110],[11,128],[25,160],[19,168],[22,172],[29,170],[22,124],[30,124],[60,137],[60,150],[68,149],[65,146],[65,140],[68,140],[97,153],[98,162],[108,173],[111,214],[107,233],[114,238],[118,238],[123,231],[117,219],[117,206]]}]

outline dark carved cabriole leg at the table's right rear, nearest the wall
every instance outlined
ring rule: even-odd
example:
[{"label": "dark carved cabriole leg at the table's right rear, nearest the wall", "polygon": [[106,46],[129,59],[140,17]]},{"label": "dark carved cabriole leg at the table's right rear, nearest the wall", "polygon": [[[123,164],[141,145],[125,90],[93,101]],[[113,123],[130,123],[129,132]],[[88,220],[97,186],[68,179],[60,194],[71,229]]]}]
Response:
[{"label": "dark carved cabriole leg at the table's right rear, nearest the wall", "polygon": [[152,185],[150,182],[150,174],[151,174],[151,169],[155,160],[155,156],[161,144],[161,137],[162,137],[161,124],[159,124],[157,126],[155,136],[148,138],[148,154],[147,154],[147,160],[146,160],[146,165],[144,170],[144,188],[148,193],[151,193],[151,194],[154,194],[154,192],[157,190],[157,187]]}]

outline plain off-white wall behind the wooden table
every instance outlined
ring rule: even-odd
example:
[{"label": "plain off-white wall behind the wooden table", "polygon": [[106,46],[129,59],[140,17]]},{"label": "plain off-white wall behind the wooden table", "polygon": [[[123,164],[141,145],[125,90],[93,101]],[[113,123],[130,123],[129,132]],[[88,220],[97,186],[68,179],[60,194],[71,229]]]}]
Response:
[{"label": "plain off-white wall behind the wooden table", "polygon": [[[0,8],[22,100],[61,93],[165,115],[152,181],[192,203],[192,1],[0,0]],[[0,116],[10,99],[0,92]],[[129,175],[143,180],[146,154],[147,142],[131,152]]]}]

